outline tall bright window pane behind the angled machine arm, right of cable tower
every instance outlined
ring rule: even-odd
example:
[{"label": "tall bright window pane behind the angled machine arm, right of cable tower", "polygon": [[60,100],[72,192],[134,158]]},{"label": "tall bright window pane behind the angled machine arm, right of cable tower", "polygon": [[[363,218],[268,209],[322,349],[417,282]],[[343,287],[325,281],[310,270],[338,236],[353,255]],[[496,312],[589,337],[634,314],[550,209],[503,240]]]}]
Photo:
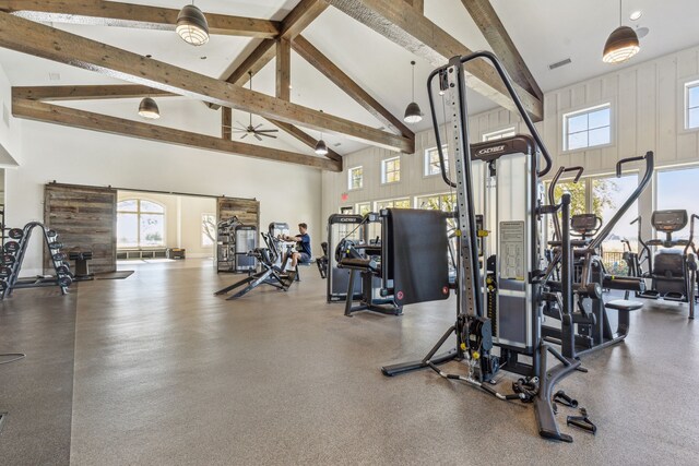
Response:
[{"label": "tall bright window pane behind the angled machine arm, right of cable tower", "polygon": [[[638,186],[638,176],[628,175],[621,178],[602,178],[592,181],[592,213],[602,218],[606,225],[618,208],[631,195]],[[602,243],[603,262],[607,273],[625,275],[628,273],[624,262],[623,240],[629,240],[631,248],[638,251],[637,225],[630,225],[638,217],[638,202],[635,202],[614,227],[613,232]]]}]

